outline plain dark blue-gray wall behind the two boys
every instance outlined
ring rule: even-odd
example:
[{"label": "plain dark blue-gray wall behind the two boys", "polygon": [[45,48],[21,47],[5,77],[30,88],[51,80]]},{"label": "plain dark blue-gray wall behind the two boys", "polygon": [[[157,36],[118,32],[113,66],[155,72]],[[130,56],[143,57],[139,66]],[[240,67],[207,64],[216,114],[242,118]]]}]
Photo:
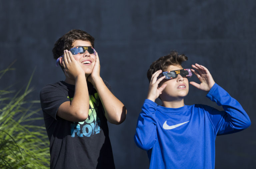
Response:
[{"label": "plain dark blue-gray wall behind the two boys", "polygon": [[[146,152],[133,141],[147,95],[146,72],[154,60],[175,49],[188,56],[184,67],[205,65],[251,118],[248,129],[217,137],[216,168],[256,168],[255,4],[254,0],[1,0],[0,70],[16,60],[16,71],[1,79],[0,89],[16,83],[18,90],[36,68],[30,99],[39,100],[44,85],[64,80],[52,58],[54,42],[71,29],[87,31],[96,39],[101,76],[128,109],[124,123],[109,125],[116,167],[148,168]],[[205,95],[190,86],[185,104],[219,109]]]}]

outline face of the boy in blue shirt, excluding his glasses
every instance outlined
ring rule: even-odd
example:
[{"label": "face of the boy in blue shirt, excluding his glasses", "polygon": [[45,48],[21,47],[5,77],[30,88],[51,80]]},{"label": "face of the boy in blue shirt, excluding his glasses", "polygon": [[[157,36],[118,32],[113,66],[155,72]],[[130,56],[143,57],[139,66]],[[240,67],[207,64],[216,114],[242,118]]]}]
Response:
[{"label": "face of the boy in blue shirt, excluding his glasses", "polygon": [[[165,71],[173,71],[183,69],[181,65],[170,65]],[[182,77],[180,74],[175,79],[164,79],[160,82],[159,86],[167,84],[162,91],[160,98],[166,101],[174,101],[183,99],[188,94],[188,79]]]}]

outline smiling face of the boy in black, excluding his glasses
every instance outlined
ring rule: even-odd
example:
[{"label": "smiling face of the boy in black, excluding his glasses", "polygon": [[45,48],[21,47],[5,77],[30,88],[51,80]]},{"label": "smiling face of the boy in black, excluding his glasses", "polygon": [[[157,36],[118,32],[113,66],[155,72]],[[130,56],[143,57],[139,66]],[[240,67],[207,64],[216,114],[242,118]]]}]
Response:
[{"label": "smiling face of the boy in black, excluding his glasses", "polygon": [[[89,41],[75,40],[72,43],[72,48],[77,47],[77,46],[92,47],[92,44]],[[77,61],[79,61],[79,63],[81,63],[81,67],[83,68],[83,70],[85,72],[85,76],[88,77],[92,73],[92,70],[93,70],[93,67],[94,67],[95,61],[96,61],[96,56],[94,54],[90,54],[86,50],[85,53],[76,54],[76,55],[73,55],[73,57]]]}]

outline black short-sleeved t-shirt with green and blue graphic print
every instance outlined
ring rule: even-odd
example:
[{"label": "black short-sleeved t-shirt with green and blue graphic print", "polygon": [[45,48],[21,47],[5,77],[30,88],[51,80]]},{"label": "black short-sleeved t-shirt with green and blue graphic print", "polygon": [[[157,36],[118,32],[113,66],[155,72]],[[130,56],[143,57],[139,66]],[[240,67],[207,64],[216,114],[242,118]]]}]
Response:
[{"label": "black short-sleeved t-shirt with green and blue graphic print", "polygon": [[104,108],[93,85],[87,85],[90,109],[83,122],[71,122],[56,115],[62,103],[72,101],[75,85],[59,81],[46,85],[40,92],[50,140],[51,168],[115,168]]}]

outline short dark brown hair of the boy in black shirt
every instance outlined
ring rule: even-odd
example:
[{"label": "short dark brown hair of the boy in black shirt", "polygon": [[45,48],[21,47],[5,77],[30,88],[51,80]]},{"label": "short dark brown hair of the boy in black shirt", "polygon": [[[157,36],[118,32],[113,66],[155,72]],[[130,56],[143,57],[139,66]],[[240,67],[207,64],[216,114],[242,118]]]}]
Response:
[{"label": "short dark brown hair of the boy in black shirt", "polygon": [[[94,37],[83,30],[72,29],[55,42],[54,48],[52,49],[53,58],[57,60],[61,55],[63,55],[64,50],[70,50],[72,48],[72,43],[75,40],[89,41],[94,48]],[[63,70],[62,66],[61,68]]]}]

